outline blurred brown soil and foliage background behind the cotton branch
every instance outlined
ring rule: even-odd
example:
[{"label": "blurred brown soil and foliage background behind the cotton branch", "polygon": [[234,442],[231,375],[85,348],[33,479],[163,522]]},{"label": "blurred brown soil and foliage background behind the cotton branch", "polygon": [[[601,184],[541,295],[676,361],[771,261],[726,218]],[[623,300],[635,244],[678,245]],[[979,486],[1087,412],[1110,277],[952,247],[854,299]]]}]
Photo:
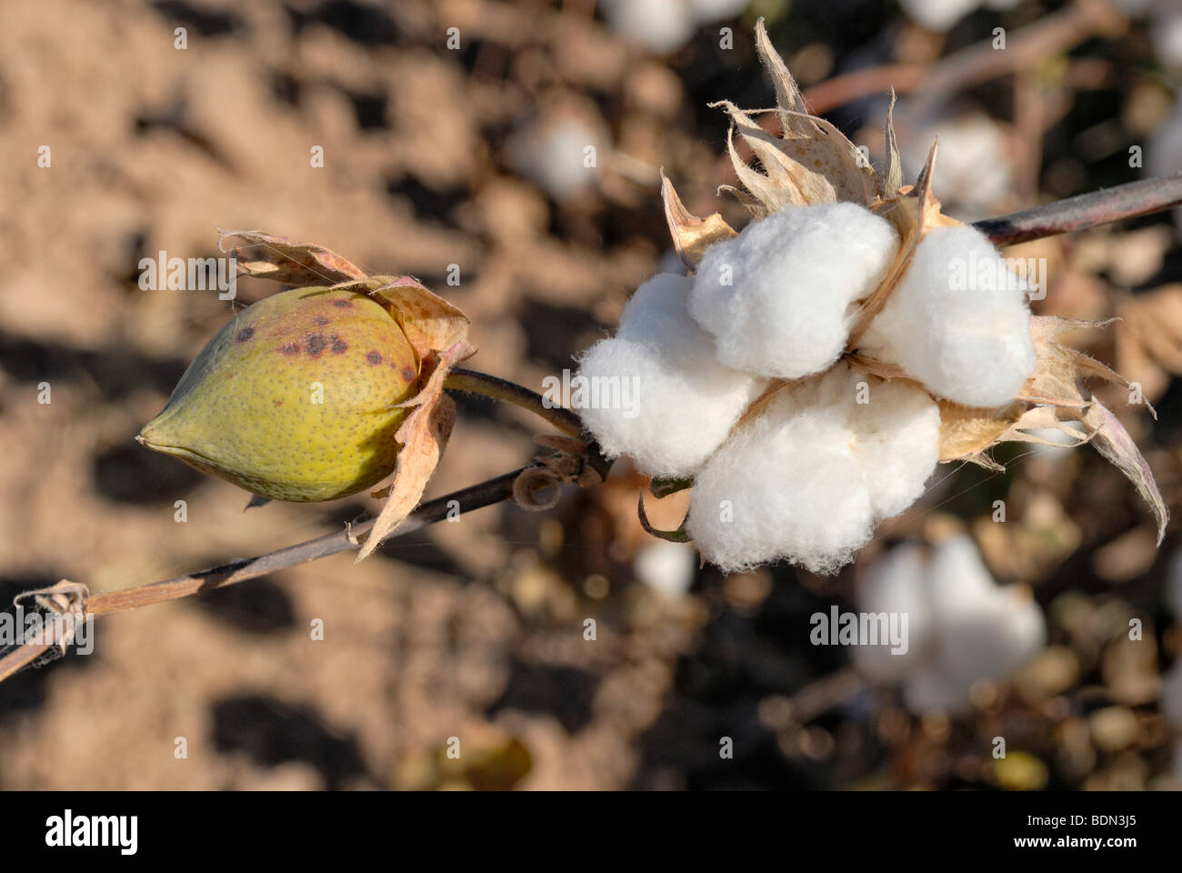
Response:
[{"label": "blurred brown soil and foliage background behind the cotton branch", "polygon": [[[644,278],[678,269],[661,167],[695,213],[743,221],[715,198],[733,175],[725,116],[707,104],[773,103],[758,17],[813,108],[876,163],[894,85],[909,173],[940,134],[936,194],[974,220],[1182,169],[1180,13],[1134,0],[7,0],[0,602],[63,577],[111,590],[181,575],[374,506],[243,512],[245,492],[132,441],[235,305],[142,290],[143,257],[215,256],[216,225],[414,274],[472,318],[470,366],[540,390]],[[1155,422],[1100,393],[1177,513],[1174,218],[1019,253],[1050,265],[1038,311],[1123,318],[1077,340],[1156,405]],[[242,280],[236,305],[274,290]],[[460,410],[428,496],[534,452],[525,413]],[[92,655],[0,684],[0,788],[1178,787],[1168,714],[1182,688],[1162,679],[1182,657],[1176,534],[1155,549],[1134,489],[1089,447],[1002,455],[1004,474],[942,467],[834,578],[699,568],[690,547],[643,534],[644,483],[618,464],[550,513],[485,509],[357,567],[338,555],[104,617]],[[686,505],[648,500],[658,528]],[[852,673],[847,651],[810,645],[808,617],[856,608],[892,544],[955,531],[999,583],[1032,588],[1047,645],[978,683],[968,706],[915,712]],[[1005,762],[991,757],[998,735]],[[460,761],[446,758],[452,737]]]}]

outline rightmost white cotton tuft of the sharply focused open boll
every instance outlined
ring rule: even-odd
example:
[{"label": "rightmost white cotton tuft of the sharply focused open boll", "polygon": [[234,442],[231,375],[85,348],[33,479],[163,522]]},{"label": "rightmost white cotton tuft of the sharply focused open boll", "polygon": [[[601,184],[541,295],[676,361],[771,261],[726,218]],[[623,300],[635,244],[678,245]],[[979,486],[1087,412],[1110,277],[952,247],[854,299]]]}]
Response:
[{"label": "rightmost white cotton tuft of the sharply focused open boll", "polygon": [[1025,285],[980,231],[934,228],[859,348],[942,397],[1004,406],[1034,369]]}]

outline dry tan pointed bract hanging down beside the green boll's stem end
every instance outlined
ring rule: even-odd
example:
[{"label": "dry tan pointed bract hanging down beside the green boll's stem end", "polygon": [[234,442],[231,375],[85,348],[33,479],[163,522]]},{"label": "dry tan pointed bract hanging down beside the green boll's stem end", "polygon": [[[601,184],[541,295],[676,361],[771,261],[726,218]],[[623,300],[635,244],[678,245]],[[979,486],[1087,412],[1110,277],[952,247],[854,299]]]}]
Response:
[{"label": "dry tan pointed bract hanging down beside the green boll's stem end", "polygon": [[397,440],[401,448],[394,479],[385,490],[385,505],[375,519],[357,561],[369,557],[382,539],[418,505],[455,423],[455,403],[443,393],[443,380],[448,370],[473,351],[470,345],[461,341],[446,351],[434,354],[430,358],[434,370],[427,384],[404,405],[411,412],[398,427]]}]

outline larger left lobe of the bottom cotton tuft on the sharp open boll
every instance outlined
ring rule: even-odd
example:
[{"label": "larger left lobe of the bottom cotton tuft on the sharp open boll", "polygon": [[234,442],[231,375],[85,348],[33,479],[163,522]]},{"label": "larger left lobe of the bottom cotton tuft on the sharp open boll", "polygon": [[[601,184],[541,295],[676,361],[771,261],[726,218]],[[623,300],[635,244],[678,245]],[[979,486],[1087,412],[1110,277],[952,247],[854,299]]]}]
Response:
[{"label": "larger left lobe of the bottom cotton tuft on the sharp open boll", "polygon": [[873,511],[833,407],[780,392],[697,472],[687,530],[723,570],[787,558],[832,573],[870,539]]}]

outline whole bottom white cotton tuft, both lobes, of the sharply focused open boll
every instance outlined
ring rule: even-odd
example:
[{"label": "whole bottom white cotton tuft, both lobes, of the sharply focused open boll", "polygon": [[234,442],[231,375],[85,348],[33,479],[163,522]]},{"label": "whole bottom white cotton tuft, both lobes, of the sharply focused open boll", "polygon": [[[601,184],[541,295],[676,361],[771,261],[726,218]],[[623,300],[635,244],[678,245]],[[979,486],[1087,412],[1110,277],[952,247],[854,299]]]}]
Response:
[{"label": "whole bottom white cotton tuft, both lobes, of the sharply focused open boll", "polygon": [[939,428],[924,392],[844,363],[785,387],[699,472],[690,536],[723,569],[786,558],[832,573],[923,493]]}]

